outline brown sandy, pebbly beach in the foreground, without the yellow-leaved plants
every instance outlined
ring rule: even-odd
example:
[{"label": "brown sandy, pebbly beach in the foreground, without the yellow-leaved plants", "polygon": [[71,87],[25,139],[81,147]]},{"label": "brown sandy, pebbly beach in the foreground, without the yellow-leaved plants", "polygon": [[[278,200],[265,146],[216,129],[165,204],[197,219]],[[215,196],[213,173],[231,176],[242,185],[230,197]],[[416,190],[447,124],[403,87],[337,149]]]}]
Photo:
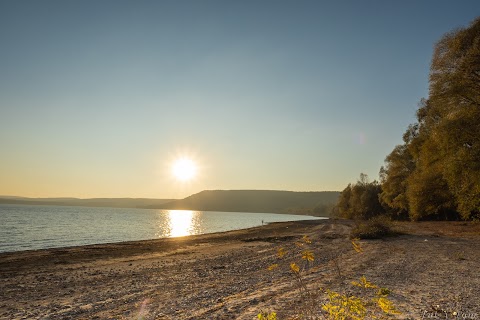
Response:
[{"label": "brown sandy, pebbly beach in the foreground, without the yellow-leaved plants", "polygon": [[[480,319],[480,224],[398,223],[403,234],[360,241],[353,223],[314,220],[118,244],[0,254],[1,319],[296,319],[298,261],[308,236],[315,261],[303,278],[318,292],[353,292],[365,277],[391,290],[398,319]],[[297,243],[297,244],[295,244]],[[286,256],[279,261],[277,252]],[[297,250],[298,251],[298,250]],[[300,260],[301,261],[301,260]],[[279,267],[267,270],[272,264]],[[353,291],[352,291],[353,290]],[[456,312],[456,314],[454,313]]]}]

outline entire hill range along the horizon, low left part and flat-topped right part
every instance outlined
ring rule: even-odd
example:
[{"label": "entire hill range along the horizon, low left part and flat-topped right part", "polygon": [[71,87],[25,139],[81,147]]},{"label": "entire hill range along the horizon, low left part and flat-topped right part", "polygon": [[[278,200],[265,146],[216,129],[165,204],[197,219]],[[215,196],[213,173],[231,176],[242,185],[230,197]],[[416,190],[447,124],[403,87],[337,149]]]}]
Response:
[{"label": "entire hill range along the horizon, low left part and flat-topped right part", "polygon": [[24,198],[0,196],[0,204],[269,212],[328,217],[339,195],[340,192],[337,191],[206,190],[181,200],[147,198]]}]

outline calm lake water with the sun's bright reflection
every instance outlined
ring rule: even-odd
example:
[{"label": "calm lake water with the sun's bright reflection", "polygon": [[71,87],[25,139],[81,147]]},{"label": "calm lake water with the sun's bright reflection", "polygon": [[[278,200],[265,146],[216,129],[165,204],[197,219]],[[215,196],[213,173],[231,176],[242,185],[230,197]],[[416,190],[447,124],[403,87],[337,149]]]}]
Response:
[{"label": "calm lake water with the sun's bright reflection", "polygon": [[0,205],[0,252],[147,240],[319,219],[273,213]]}]

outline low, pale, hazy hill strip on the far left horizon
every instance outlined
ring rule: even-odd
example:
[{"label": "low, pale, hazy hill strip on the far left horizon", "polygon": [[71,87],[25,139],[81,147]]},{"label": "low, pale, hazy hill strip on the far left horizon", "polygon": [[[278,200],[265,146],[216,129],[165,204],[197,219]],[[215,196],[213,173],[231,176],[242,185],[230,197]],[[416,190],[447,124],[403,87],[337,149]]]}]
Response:
[{"label": "low, pale, hazy hill strip on the far left horizon", "polygon": [[81,207],[111,207],[111,208],[145,208],[161,206],[170,203],[174,199],[147,199],[147,198],[23,198],[12,196],[0,196],[0,203],[26,204],[26,205],[50,205],[50,206],[81,206]]}]

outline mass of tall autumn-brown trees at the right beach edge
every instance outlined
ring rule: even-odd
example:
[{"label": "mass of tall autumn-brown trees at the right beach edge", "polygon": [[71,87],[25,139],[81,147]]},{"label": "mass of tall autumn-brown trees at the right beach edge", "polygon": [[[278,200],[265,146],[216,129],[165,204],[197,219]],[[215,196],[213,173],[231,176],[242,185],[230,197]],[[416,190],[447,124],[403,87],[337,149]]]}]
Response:
[{"label": "mass of tall autumn-brown trees at the right beach edge", "polygon": [[480,19],[435,46],[429,98],[386,157],[380,199],[411,219],[480,213]]}]

